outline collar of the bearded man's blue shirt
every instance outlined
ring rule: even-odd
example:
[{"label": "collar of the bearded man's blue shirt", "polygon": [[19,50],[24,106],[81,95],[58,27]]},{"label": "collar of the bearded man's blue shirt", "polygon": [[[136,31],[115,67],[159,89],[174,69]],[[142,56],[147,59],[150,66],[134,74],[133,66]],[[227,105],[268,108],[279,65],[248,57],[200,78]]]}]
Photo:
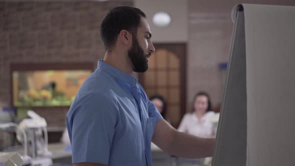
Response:
[{"label": "collar of the bearded man's blue shirt", "polygon": [[134,76],[120,71],[112,65],[103,62],[103,60],[98,60],[97,68],[130,85],[135,85],[138,81]]}]

